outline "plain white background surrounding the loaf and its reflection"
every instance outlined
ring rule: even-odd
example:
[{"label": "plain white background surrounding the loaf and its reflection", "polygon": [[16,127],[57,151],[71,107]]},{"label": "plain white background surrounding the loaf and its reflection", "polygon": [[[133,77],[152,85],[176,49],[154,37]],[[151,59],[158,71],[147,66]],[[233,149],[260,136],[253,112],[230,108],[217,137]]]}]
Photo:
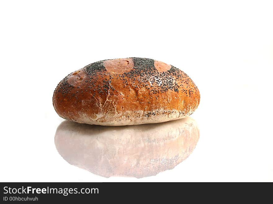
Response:
[{"label": "plain white background surrounding the loaf and its reflection", "polygon": [[[272,1],[1,1],[0,181],[273,181]],[[146,57],[185,71],[200,139],[142,179],[69,165],[54,135],[56,85],[95,61]]]}]

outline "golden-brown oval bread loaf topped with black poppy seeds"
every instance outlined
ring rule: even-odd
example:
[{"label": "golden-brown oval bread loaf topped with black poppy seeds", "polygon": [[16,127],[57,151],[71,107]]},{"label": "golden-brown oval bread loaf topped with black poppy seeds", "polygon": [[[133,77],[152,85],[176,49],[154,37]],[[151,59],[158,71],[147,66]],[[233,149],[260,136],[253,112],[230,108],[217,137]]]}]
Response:
[{"label": "golden-brown oval bread loaf topped with black poppy seeds", "polygon": [[66,76],[53,106],[60,117],[93,125],[139,125],[181,119],[199,105],[186,73],[146,58],[104,60]]}]

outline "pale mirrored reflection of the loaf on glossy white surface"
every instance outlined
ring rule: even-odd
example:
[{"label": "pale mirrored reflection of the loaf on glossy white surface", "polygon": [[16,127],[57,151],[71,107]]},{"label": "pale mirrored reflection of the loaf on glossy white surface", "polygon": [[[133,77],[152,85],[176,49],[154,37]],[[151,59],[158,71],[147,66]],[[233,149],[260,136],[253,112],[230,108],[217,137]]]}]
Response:
[{"label": "pale mirrored reflection of the loaf on glossy white surface", "polygon": [[194,150],[199,129],[190,118],[120,127],[62,122],[55,145],[70,164],[96,175],[146,177],[172,169]]}]

